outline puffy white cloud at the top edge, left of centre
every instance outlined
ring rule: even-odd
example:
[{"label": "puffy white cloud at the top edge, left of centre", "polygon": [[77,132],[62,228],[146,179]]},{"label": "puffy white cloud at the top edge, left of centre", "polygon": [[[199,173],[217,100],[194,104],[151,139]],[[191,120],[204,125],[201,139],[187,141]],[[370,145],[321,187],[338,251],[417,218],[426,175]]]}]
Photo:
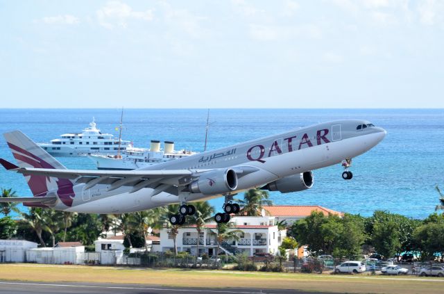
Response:
[{"label": "puffy white cloud at the top edge, left of centre", "polygon": [[105,6],[97,10],[96,14],[99,24],[105,28],[114,28],[114,26],[126,28],[131,19],[147,22],[153,20],[153,10],[134,11],[128,4],[121,1],[107,2]]}]

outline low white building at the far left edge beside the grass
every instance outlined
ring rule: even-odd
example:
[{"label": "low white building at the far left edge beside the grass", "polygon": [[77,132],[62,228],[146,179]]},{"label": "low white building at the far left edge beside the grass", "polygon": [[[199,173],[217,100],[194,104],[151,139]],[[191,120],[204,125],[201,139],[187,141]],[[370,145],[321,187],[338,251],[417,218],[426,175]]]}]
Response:
[{"label": "low white building at the far left edge beside the grass", "polygon": [[0,263],[26,262],[26,250],[37,248],[37,243],[26,240],[0,240]]}]

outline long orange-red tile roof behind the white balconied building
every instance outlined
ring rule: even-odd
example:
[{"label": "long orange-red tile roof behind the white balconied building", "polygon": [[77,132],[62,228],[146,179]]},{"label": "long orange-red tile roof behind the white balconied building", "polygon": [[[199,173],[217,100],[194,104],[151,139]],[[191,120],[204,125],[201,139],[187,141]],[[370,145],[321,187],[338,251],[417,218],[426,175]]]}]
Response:
[{"label": "long orange-red tile roof behind the white balconied building", "polygon": [[271,216],[287,216],[295,218],[305,218],[311,214],[312,211],[320,211],[324,215],[339,215],[343,216],[343,213],[334,211],[332,209],[326,209],[323,206],[318,205],[273,205],[262,206]]}]

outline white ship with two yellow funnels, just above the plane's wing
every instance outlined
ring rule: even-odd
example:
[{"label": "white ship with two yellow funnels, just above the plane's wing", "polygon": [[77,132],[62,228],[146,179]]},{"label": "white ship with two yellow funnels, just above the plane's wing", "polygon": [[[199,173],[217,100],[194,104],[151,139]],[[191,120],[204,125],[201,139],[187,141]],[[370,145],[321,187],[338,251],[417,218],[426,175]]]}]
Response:
[{"label": "white ship with two yellow funnels, just above the plane's wing", "polygon": [[164,141],[164,149],[160,149],[160,141],[151,140],[150,148],[128,147],[120,156],[91,154],[88,157],[96,163],[98,170],[135,170],[147,165],[172,161],[196,154],[186,149],[174,150],[174,142]]}]

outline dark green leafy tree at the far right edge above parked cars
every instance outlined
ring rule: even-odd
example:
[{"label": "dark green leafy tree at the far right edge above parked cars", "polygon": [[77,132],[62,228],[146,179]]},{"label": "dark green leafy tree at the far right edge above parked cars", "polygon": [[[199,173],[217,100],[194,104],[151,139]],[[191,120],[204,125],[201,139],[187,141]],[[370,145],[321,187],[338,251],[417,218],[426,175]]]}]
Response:
[{"label": "dark green leafy tree at the far right edge above parked cars", "polygon": [[413,236],[416,239],[422,259],[434,260],[434,254],[444,256],[444,223],[428,222],[418,227]]}]

